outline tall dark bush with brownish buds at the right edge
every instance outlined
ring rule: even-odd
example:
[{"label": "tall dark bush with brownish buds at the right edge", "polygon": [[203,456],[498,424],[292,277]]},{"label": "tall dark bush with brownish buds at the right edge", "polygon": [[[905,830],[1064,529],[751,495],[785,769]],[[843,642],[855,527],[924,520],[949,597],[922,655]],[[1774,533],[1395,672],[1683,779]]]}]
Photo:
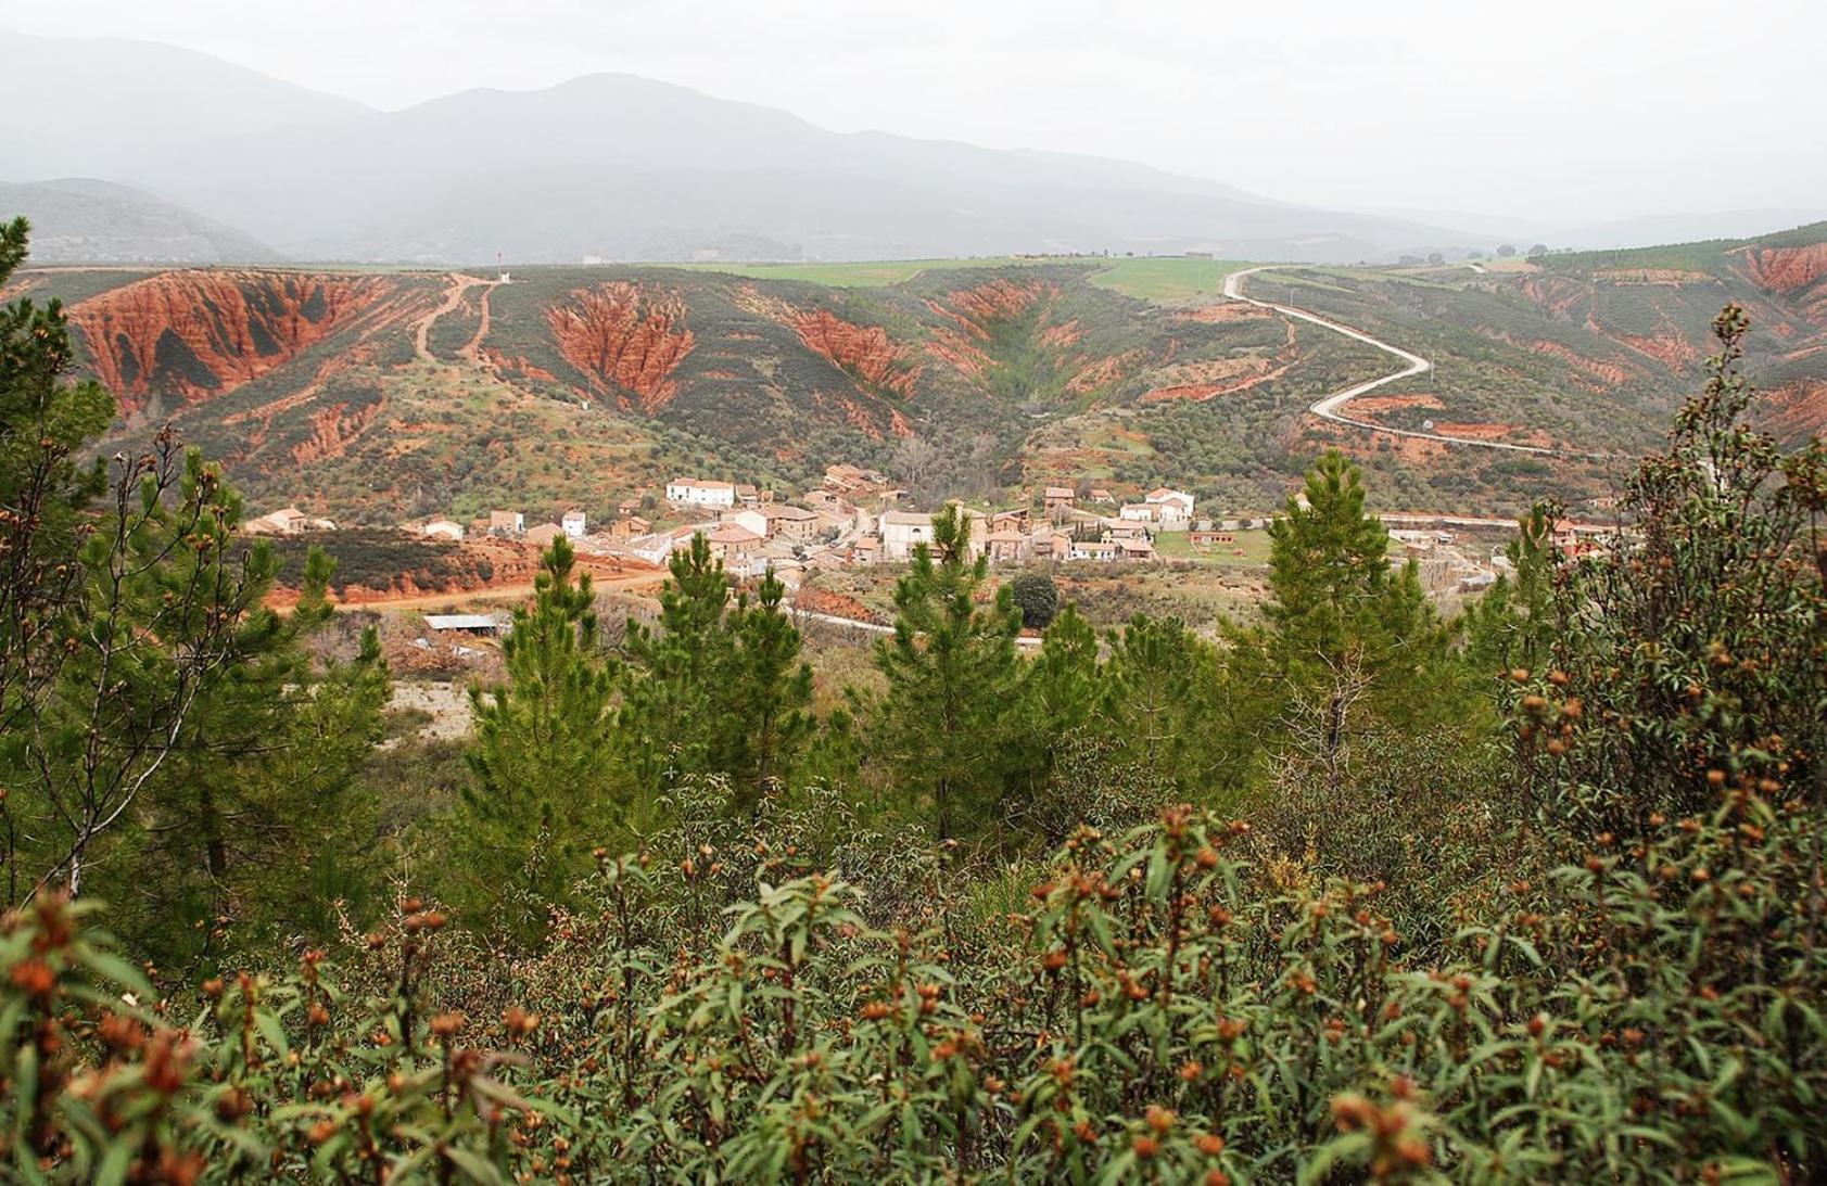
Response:
[{"label": "tall dark bush with brownish buds at the right edge", "polygon": [[1752,429],[1728,307],[1701,395],[1626,486],[1633,532],[1562,563],[1547,669],[1515,672],[1531,802],[1642,835],[1723,788],[1807,786],[1827,753],[1827,451]]}]

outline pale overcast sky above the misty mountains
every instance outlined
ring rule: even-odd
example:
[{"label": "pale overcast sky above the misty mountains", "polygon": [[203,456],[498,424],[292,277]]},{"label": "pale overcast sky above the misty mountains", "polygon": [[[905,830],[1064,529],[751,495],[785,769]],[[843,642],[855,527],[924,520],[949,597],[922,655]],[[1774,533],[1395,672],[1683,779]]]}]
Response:
[{"label": "pale overcast sky above the misty mountains", "polygon": [[1827,205],[1823,0],[0,0],[0,24],[175,42],[384,108],[621,69],[840,132],[1354,208]]}]

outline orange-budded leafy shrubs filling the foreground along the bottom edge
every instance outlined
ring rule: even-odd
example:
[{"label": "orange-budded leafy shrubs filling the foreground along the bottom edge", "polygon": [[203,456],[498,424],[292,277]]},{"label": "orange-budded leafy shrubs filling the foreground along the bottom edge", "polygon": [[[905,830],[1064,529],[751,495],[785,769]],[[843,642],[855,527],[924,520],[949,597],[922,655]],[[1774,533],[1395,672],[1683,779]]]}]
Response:
[{"label": "orange-budded leafy shrubs filling the foreground along the bottom edge", "polygon": [[[90,908],[7,923],[7,1159],[51,1181],[1690,1181],[1827,1155],[1820,817],[1736,789],[1518,881],[1410,961],[1379,886],[1264,892],[1171,808],[1027,906],[877,917],[822,874],[599,859],[491,967],[402,903],[340,976],[161,998]],[[924,928],[910,923],[928,921]],[[490,1012],[481,980],[524,990]],[[362,985],[356,989],[354,985]]]}]

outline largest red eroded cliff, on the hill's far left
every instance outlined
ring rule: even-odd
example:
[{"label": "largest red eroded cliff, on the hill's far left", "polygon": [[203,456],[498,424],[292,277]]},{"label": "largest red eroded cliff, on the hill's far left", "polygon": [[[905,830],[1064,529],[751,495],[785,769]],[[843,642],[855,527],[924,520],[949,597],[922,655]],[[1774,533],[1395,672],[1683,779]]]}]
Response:
[{"label": "largest red eroded cliff, on the hill's far left", "polygon": [[153,395],[192,402],[234,391],[393,291],[384,276],[161,272],[79,302],[69,320],[95,376],[133,413]]}]

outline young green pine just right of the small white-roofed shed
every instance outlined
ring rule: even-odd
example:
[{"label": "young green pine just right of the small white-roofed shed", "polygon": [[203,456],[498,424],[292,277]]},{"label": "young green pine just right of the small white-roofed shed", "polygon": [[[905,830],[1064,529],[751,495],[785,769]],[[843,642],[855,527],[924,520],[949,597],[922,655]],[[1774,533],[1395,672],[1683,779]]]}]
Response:
[{"label": "young green pine just right of the small white-roofed shed", "polygon": [[459,879],[473,905],[501,903],[521,936],[563,901],[614,824],[616,674],[597,647],[590,574],[563,535],[544,554],[533,603],[502,640],[506,683],[471,687],[475,740],[455,821]]}]

